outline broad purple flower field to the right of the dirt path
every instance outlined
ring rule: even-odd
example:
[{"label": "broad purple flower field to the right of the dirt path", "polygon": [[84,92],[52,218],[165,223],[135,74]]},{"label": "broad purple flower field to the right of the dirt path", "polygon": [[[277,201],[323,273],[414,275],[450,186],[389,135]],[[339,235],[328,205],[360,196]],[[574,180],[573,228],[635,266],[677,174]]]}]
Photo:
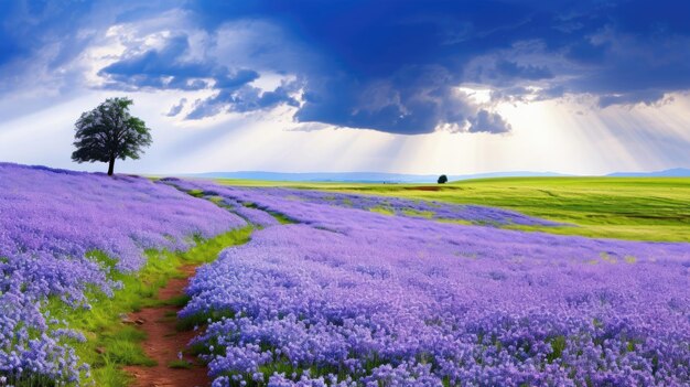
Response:
[{"label": "broad purple flower field to the right of the dirt path", "polygon": [[690,245],[203,191],[300,223],[255,233],[192,279],[181,318],[211,316],[195,341],[214,386],[690,383]]}]

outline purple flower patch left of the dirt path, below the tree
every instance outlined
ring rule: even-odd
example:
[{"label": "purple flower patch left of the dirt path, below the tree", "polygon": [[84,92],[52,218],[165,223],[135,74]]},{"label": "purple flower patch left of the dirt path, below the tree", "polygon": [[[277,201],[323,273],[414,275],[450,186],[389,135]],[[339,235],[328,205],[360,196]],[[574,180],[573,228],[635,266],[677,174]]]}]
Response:
[{"label": "purple flower patch left of the dirt path, below the tree", "polygon": [[110,294],[119,283],[109,271],[139,269],[144,249],[183,249],[193,235],[242,225],[147,179],[0,163],[0,375],[77,381],[84,367],[65,342],[79,337],[42,313],[48,298],[89,308],[86,290]]}]

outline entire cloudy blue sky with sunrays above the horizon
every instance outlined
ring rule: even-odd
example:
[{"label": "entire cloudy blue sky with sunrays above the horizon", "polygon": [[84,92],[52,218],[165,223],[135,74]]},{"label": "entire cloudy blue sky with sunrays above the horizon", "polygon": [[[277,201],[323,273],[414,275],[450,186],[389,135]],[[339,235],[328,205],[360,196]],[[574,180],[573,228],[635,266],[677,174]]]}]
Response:
[{"label": "entire cloudy blue sky with sunrays above the horizon", "polygon": [[116,172],[690,168],[690,1],[0,1],[0,161],[71,160],[129,97]]}]

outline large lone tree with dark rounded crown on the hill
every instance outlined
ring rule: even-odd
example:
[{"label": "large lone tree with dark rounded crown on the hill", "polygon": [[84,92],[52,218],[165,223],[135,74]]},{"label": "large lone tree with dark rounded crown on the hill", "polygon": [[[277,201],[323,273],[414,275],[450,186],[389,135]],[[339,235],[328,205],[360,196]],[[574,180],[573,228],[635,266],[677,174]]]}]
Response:
[{"label": "large lone tree with dark rounded crown on the hill", "polygon": [[151,144],[151,129],[129,114],[129,98],[108,98],[91,111],[85,111],[75,123],[72,153],[76,162],[107,162],[112,175],[115,159],[139,159],[142,148]]}]

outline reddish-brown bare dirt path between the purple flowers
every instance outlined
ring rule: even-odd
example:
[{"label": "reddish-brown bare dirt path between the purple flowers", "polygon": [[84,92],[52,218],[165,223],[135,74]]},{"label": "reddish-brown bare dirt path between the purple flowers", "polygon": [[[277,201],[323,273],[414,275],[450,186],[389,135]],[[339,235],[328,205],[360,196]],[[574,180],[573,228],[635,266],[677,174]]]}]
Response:
[{"label": "reddish-brown bare dirt path between the purple flowers", "polygon": [[[185,278],[171,279],[159,291],[159,299],[169,300],[184,294],[188,278],[194,275],[194,266],[182,268]],[[183,359],[193,364],[191,368],[171,368],[169,364],[177,361],[177,354],[186,347],[192,337],[198,332],[180,332],[175,329],[176,319],[173,313],[177,307],[145,308],[140,312],[131,313],[129,320],[139,325],[147,333],[142,343],[145,354],[158,365],[153,367],[129,366],[125,369],[134,377],[132,386],[137,387],[205,387],[211,385],[206,376],[206,366],[198,364],[195,356],[184,355]]]}]

